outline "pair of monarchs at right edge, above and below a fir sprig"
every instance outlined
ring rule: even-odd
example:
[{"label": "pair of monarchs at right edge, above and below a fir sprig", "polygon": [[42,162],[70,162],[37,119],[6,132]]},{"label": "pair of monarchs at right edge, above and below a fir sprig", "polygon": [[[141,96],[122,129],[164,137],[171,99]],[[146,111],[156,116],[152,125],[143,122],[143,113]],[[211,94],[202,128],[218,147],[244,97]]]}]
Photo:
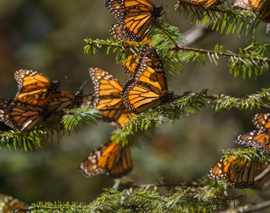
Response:
[{"label": "pair of monarchs at right edge, above and below a fir sprig", "polygon": [[[270,113],[258,113],[252,118],[253,124],[258,130],[247,132],[235,138],[237,144],[251,146],[264,154],[270,154]],[[208,173],[211,180],[227,180],[229,186],[235,188],[247,188],[254,184],[255,177],[268,166],[262,164],[256,157],[248,160],[235,154],[228,158],[225,153]]]}]

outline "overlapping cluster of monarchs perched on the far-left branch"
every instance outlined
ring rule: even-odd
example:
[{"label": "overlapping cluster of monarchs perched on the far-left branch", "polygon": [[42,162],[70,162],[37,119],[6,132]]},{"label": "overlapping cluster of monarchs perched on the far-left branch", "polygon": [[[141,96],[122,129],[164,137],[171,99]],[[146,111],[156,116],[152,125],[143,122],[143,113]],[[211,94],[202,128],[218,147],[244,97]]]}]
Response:
[{"label": "overlapping cluster of monarchs perched on the far-left branch", "polygon": [[14,73],[18,91],[14,99],[0,99],[0,121],[16,131],[32,130],[43,122],[61,119],[63,109],[82,102],[82,90],[59,90],[60,82],[50,81],[38,71],[21,69]]}]

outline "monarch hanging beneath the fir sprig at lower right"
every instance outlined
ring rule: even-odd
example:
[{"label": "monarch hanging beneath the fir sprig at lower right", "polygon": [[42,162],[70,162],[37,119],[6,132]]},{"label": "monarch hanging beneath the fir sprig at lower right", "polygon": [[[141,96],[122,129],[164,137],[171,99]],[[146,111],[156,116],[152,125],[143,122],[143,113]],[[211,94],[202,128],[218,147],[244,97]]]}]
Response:
[{"label": "monarch hanging beneath the fir sprig at lower right", "polygon": [[256,172],[261,168],[258,158],[252,161],[239,158],[238,154],[226,159],[226,155],[214,164],[208,173],[210,180],[227,180],[229,186],[247,188],[253,185]]}]

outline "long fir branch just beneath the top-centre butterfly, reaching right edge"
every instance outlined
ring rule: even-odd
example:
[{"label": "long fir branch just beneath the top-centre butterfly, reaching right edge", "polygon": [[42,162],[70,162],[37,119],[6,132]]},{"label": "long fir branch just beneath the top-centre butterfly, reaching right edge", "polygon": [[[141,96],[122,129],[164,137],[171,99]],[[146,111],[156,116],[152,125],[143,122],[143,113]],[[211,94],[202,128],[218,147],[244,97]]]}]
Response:
[{"label": "long fir branch just beneath the top-centre butterfly, reaching right edge", "polygon": [[[270,58],[266,55],[266,51],[269,52],[269,46],[259,44],[255,40],[248,47],[240,49],[239,53],[232,53],[231,51],[224,51],[223,46],[219,45],[214,50],[183,47],[181,46],[183,35],[179,34],[176,28],[174,29],[166,22],[161,22],[151,32],[153,33],[150,35],[152,38],[151,44],[157,48],[158,54],[164,61],[165,69],[171,76],[182,71],[182,64],[184,62],[192,62],[196,65],[205,64],[206,56],[208,56],[211,63],[216,65],[218,65],[219,56],[222,56],[230,68],[230,73],[233,73],[235,76],[241,74],[244,79],[246,76],[251,78],[253,75],[262,75],[269,69]],[[181,36],[181,39],[176,40],[171,34],[175,34],[175,37],[176,35]],[[143,44],[127,43],[122,40],[114,41],[112,39],[104,41],[87,38],[85,41],[87,43],[84,47],[85,53],[91,51],[92,54],[96,54],[99,49],[106,46],[107,54],[110,53],[111,49],[113,52],[117,52],[116,59],[118,63],[126,60],[127,54],[124,53],[131,51],[134,54],[138,54],[139,48]]]}]

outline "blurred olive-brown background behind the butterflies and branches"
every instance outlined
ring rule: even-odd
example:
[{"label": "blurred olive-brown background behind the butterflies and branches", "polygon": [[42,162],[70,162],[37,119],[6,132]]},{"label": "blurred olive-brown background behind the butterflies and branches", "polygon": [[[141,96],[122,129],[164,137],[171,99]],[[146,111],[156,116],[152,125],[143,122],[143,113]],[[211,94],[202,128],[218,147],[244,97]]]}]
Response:
[{"label": "blurred olive-brown background behind the butterflies and branches", "polygon": [[[153,1],[156,5],[163,1]],[[168,20],[181,33],[194,27],[174,11],[176,1],[165,5]],[[75,92],[88,76],[89,67],[103,68],[123,84],[128,80],[115,55],[106,55],[105,49],[97,55],[86,55],[83,47],[86,37],[110,37],[107,28],[116,23],[101,0],[1,0],[0,1],[0,97],[13,98],[17,86],[13,73],[18,69],[34,69],[51,80],[61,81],[61,89]],[[270,41],[265,25],[256,31],[259,42]],[[207,33],[191,47],[212,50],[218,43],[225,50],[238,52],[251,42],[247,36]],[[199,91],[209,88],[214,93],[244,96],[269,88],[270,73],[257,79],[243,80],[229,73],[226,62],[219,66],[209,61],[205,66],[184,64],[183,72],[169,82],[169,89]],[[89,82],[84,93],[93,92]],[[260,110],[263,111],[263,110]],[[158,136],[150,143],[132,148],[134,169],[129,176],[136,184],[154,183],[165,178],[172,182],[192,181],[205,176],[219,160],[221,150],[239,147],[233,138],[253,130],[251,115],[258,110],[224,111],[213,113],[204,108],[175,122],[159,127]],[[1,129],[6,127],[1,124]],[[28,152],[0,152],[0,193],[6,193],[27,203],[37,201],[84,201],[96,198],[103,188],[110,187],[113,179],[97,176],[84,179],[78,172],[80,162],[100,144],[110,139],[115,127],[98,123],[84,126],[78,133],[66,134],[58,143],[42,143],[40,149]],[[162,137],[160,136],[162,135]]]}]

